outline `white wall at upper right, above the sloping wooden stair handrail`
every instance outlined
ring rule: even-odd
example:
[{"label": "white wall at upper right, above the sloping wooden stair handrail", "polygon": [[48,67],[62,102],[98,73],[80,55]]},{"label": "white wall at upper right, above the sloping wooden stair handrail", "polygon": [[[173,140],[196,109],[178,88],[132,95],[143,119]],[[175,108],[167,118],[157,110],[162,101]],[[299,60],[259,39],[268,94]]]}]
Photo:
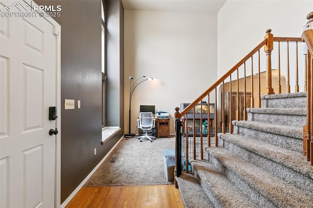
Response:
[{"label": "white wall at upper right, above the sloping wooden stair handrail", "polygon": [[[310,0],[227,0],[218,13],[218,78],[264,40],[267,29],[272,29],[274,37],[301,37],[306,16],[312,11],[313,1]],[[274,50],[277,51],[276,45]],[[302,51],[299,45],[298,52],[302,54]],[[263,49],[260,52],[265,55]],[[272,68],[277,69],[277,61],[272,59]],[[291,70],[294,69],[293,62],[291,60]],[[303,63],[299,64],[299,70],[303,69]],[[285,68],[282,65],[282,73],[286,76]],[[302,71],[299,79],[303,78]],[[291,82],[291,92],[293,85]]]}]

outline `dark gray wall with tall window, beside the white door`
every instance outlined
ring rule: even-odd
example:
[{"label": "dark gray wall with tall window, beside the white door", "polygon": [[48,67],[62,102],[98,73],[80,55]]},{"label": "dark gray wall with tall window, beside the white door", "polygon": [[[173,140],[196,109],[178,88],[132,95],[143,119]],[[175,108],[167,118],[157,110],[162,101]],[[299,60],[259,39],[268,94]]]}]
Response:
[{"label": "dark gray wall with tall window, beside the white door", "polygon": [[[108,79],[108,125],[120,126],[121,131],[109,142],[101,145],[102,73],[101,73],[101,0],[35,0],[39,5],[61,5],[61,203],[81,184],[92,169],[111,150],[124,132],[123,56],[122,36],[111,34],[118,40],[118,53],[110,55],[114,64],[107,69],[113,72]],[[118,10],[108,16],[120,17]],[[108,11],[111,11],[108,8]],[[109,23],[109,22],[108,22]],[[113,27],[123,27],[123,18]],[[117,26],[114,26],[117,25]],[[116,36],[116,37],[115,37]],[[115,50],[115,49],[114,49]],[[113,51],[114,51],[113,50]],[[110,51],[108,51],[110,53]],[[115,61],[118,60],[118,61]],[[118,64],[115,64],[117,62]],[[117,98],[117,99],[116,99]],[[75,109],[65,110],[64,99],[75,100]],[[113,99],[113,100],[110,100]],[[77,109],[77,100],[81,108]],[[94,148],[97,154],[94,155]]]}]

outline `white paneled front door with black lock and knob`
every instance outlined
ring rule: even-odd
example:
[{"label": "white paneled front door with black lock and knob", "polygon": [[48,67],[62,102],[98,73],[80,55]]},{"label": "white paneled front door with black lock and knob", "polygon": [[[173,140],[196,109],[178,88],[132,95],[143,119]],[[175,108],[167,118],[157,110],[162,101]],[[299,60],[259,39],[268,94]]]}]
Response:
[{"label": "white paneled front door with black lock and knob", "polygon": [[[0,0],[6,14],[20,9],[30,11],[23,0]],[[56,121],[48,113],[60,96],[59,37],[55,26],[38,14],[7,16],[0,17],[0,207],[52,208],[59,135],[49,135]]]}]

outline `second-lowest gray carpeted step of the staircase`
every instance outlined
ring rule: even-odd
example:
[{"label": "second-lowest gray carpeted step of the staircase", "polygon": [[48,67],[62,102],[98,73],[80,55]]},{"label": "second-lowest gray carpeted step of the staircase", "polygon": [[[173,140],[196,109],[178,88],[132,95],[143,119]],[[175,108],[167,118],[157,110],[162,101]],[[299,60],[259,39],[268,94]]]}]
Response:
[{"label": "second-lowest gray carpeted step of the staircase", "polygon": [[194,160],[191,164],[201,178],[203,189],[206,189],[214,207],[252,208],[256,205],[247,199],[247,196],[235,187],[223,174],[214,170],[214,166],[206,161]]}]

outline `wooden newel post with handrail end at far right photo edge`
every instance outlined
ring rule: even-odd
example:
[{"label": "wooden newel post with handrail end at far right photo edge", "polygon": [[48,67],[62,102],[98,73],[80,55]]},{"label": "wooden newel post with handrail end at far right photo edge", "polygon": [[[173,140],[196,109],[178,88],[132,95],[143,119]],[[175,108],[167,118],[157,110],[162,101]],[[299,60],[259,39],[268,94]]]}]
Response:
[{"label": "wooden newel post with handrail end at far right photo edge", "polygon": [[304,26],[302,40],[306,43],[306,91],[307,91],[307,125],[303,126],[303,154],[313,166],[313,12],[308,14],[308,23]]}]

